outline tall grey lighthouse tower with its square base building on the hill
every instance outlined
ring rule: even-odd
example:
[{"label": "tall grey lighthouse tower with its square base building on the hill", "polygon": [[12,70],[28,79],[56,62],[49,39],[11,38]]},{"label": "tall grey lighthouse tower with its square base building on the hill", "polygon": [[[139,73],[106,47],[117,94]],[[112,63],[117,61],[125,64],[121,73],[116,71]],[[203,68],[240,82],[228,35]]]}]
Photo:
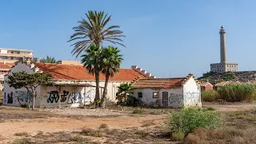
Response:
[{"label": "tall grey lighthouse tower with its square base building on the hill", "polygon": [[220,34],[220,60],[219,63],[210,64],[210,71],[223,73],[223,72],[235,72],[238,71],[238,63],[226,62],[226,30],[221,27]]}]

